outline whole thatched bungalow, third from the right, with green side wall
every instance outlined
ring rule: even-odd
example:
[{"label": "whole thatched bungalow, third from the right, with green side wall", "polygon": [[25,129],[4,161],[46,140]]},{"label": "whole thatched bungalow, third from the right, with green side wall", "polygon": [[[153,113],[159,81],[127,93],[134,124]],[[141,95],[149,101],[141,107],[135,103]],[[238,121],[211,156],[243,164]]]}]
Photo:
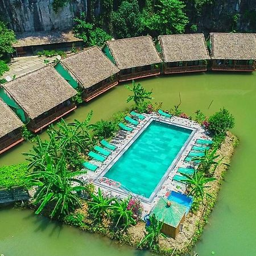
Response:
[{"label": "whole thatched bungalow, third from the right, with green side wall", "polygon": [[151,36],[106,42],[102,51],[121,70],[119,81],[160,74],[160,59]]}]

